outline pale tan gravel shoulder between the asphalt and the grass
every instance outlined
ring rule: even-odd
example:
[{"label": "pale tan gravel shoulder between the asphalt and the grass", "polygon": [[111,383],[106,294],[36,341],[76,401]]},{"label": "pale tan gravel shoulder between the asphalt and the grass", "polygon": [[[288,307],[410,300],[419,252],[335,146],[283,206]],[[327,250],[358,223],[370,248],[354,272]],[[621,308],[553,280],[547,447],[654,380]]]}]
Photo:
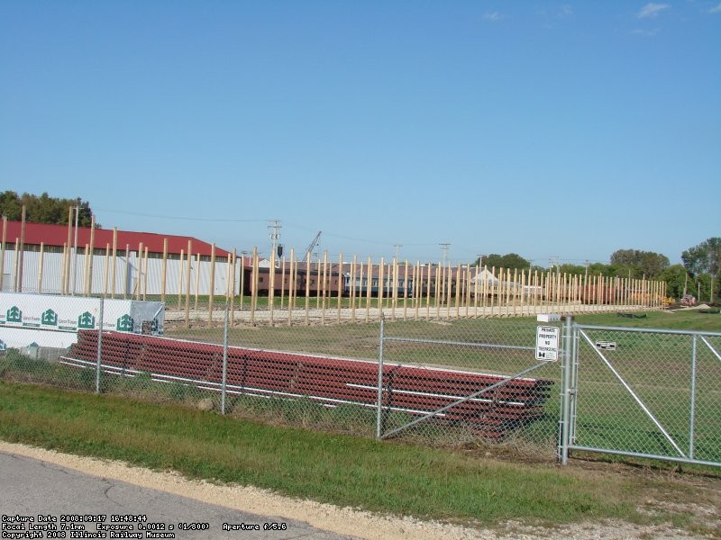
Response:
[{"label": "pale tan gravel shoulder between the asphalt and the grass", "polygon": [[[253,487],[220,486],[209,482],[190,481],[175,473],[159,473],[132,467],[120,462],[98,460],[77,455],[59,454],[31,446],[15,445],[0,441],[0,452],[24,455],[41,461],[58,464],[83,473],[131,482],[146,488],[168,491],[184,497],[213,504],[223,501],[223,506],[260,515],[305,521],[313,527],[333,531],[342,535],[367,539],[410,540],[468,540],[476,539],[531,539],[575,538],[590,540],[607,539],[673,539],[673,538],[714,538],[721,536],[692,536],[688,532],[671,527],[670,524],[639,526],[621,521],[603,523],[584,522],[570,526],[546,529],[525,527],[516,521],[508,521],[494,529],[457,527],[415,518],[393,518],[374,515],[356,509],[338,508],[310,500],[295,500],[279,496],[271,491]],[[594,467],[593,464],[588,465]],[[688,481],[687,481],[688,482]],[[653,514],[654,509],[691,513],[699,525],[721,531],[721,482],[703,479],[704,488],[716,492],[704,504],[689,504],[678,501],[656,500],[661,493],[650,493],[644,511]],[[698,487],[698,486],[697,486]]]}]

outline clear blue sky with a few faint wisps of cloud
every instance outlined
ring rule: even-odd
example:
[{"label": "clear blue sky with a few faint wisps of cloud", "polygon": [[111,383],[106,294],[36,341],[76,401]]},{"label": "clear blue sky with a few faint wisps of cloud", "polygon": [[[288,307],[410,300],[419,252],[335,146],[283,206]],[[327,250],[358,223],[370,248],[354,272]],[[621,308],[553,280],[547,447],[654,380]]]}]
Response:
[{"label": "clear blue sky with a few faint wisps of cloud", "polygon": [[721,236],[719,0],[4,0],[0,74],[0,190],[105,228],[540,266]]}]

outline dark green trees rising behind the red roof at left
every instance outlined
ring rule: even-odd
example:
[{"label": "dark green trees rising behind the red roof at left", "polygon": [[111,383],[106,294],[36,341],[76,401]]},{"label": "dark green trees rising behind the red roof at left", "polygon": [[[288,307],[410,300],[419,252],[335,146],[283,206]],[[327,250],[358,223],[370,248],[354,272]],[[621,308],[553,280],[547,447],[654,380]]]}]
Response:
[{"label": "dark green trees rising behind the red roof at left", "polygon": [[[14,191],[0,193],[0,213],[7,216],[8,220],[19,221],[23,219],[23,205],[25,206],[25,219],[32,223],[51,223],[55,225],[68,224],[68,209],[78,208],[78,225],[90,227],[93,211],[90,203],[78,199],[59,199],[50,197],[48,193],[42,193],[40,197],[30,193],[23,193],[18,196]],[[74,218],[73,218],[74,219]],[[100,224],[96,223],[100,229]]]}]

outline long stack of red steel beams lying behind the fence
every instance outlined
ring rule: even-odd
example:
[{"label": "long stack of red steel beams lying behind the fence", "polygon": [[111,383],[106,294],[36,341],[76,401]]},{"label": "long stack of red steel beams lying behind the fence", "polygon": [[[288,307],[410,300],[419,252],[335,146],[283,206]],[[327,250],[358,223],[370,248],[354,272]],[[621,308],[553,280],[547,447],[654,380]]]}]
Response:
[{"label": "long stack of red steel beams lying behind the fence", "polygon": [[[182,383],[220,392],[224,348],[182,339],[104,331],[102,370],[106,374],[150,374],[154,381]],[[92,368],[97,362],[97,331],[81,330],[61,362]],[[378,363],[244,347],[227,348],[226,392],[261,397],[301,398],[327,406],[344,403],[378,405]],[[418,416],[461,401],[507,377],[495,374],[384,365],[381,402],[384,410]],[[462,422],[490,439],[543,415],[552,381],[516,378],[461,401],[434,415],[434,422]]]}]

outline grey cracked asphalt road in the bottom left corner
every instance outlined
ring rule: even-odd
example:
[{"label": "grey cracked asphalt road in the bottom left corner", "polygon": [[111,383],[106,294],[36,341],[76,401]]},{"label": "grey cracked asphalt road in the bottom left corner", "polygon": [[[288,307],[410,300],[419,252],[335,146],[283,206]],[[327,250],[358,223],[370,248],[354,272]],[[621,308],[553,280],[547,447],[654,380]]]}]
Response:
[{"label": "grey cracked asphalt road in the bottom left corner", "polygon": [[[63,521],[63,517],[71,517]],[[114,516],[129,517],[125,520]],[[44,517],[44,520],[41,520]],[[97,517],[105,518],[97,521]],[[141,517],[144,520],[132,520]],[[0,536],[2,538],[153,537],[350,539],[301,521],[258,516],[206,504],[165,491],[91,476],[23,455],[0,452]],[[32,518],[32,522],[23,518]],[[71,525],[73,524],[73,525]],[[225,527],[224,527],[225,524]],[[55,527],[55,530],[52,527]],[[68,530],[65,527],[76,527]],[[123,526],[125,530],[99,530]],[[32,529],[46,527],[46,530]],[[196,527],[194,530],[193,527]],[[234,530],[227,530],[234,527]],[[119,528],[119,527],[115,527]],[[260,529],[260,530],[259,530]],[[42,536],[32,536],[39,531]],[[105,532],[105,536],[96,536]],[[135,536],[114,536],[113,532]],[[24,534],[23,533],[27,533]],[[50,534],[49,534],[50,533]],[[55,534],[57,533],[57,535]],[[14,536],[19,534],[19,536]],[[137,536],[140,534],[140,536]]]}]

